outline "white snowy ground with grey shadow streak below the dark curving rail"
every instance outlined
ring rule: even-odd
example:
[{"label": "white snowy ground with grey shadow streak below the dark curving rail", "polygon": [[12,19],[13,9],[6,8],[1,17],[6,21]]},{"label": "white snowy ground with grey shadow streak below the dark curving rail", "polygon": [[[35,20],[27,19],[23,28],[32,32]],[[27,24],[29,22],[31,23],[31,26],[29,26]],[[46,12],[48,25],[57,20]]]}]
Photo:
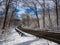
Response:
[{"label": "white snowy ground with grey shadow streak below the dark curving rail", "polygon": [[[1,31],[0,31],[1,33]],[[5,30],[4,34],[0,34],[0,45],[58,45],[57,43],[36,38],[31,35],[20,36],[14,28]]]}]

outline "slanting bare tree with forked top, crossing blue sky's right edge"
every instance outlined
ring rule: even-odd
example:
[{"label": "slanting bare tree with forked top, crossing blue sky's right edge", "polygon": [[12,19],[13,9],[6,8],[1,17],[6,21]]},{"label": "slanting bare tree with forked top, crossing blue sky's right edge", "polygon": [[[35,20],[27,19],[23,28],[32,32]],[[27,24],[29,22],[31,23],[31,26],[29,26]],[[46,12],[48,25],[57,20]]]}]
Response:
[{"label": "slanting bare tree with forked top, crossing blue sky's right edge", "polygon": [[34,1],[31,1],[31,3],[32,3],[33,6],[30,6],[30,4],[28,3],[28,1],[25,1],[25,0],[24,0],[24,3],[27,4],[27,7],[29,7],[29,8],[31,8],[31,9],[34,10],[35,15],[36,15],[36,17],[37,17],[37,24],[38,24],[38,27],[40,27],[40,23],[39,23],[39,17],[38,17],[38,13],[37,13],[37,6],[36,6],[36,3],[35,3]]}]

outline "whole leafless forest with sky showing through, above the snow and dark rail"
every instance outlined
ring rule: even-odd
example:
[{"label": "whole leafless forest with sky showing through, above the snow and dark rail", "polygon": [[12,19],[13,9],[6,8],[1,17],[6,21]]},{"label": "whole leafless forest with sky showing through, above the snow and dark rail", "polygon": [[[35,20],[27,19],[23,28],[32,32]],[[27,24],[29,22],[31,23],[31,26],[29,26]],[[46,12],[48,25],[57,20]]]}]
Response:
[{"label": "whole leafless forest with sky showing through, above the snow and dark rail", "polygon": [[0,0],[0,35],[19,26],[60,34],[60,0]]}]

